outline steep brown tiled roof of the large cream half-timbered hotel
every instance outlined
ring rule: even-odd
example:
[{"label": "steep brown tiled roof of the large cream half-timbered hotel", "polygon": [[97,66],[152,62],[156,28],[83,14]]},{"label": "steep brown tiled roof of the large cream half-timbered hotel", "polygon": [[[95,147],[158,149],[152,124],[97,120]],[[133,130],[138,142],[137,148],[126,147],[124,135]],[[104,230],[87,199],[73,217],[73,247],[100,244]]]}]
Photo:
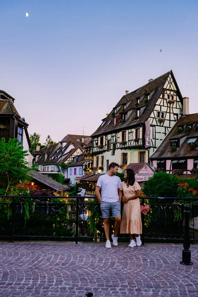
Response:
[{"label": "steep brown tiled roof of the large cream half-timbered hotel", "polygon": [[[115,105],[115,108],[117,108],[116,114],[121,114],[122,113],[122,107],[124,104],[127,105],[127,108],[124,110],[124,112],[127,113],[127,120],[125,122],[119,123],[117,122],[115,125],[113,124],[113,116],[112,116],[112,111],[108,114],[108,116],[103,120],[102,124],[99,126],[99,128],[96,130],[95,133],[91,135],[91,137],[94,136],[99,136],[102,134],[107,134],[110,131],[115,131],[115,130],[122,130],[123,128],[126,127],[131,127],[131,126],[138,126],[141,123],[144,123],[146,120],[148,120],[148,117],[150,116],[153,106],[156,103],[157,99],[162,93],[164,84],[169,76],[169,74],[172,75],[174,79],[174,83],[177,87],[178,90],[178,96],[179,99],[182,101],[182,95],[179,91],[177,82],[174,78],[172,70],[163,74],[162,76],[154,79],[150,83],[142,86],[141,88],[124,95],[119,102]],[[143,113],[140,115],[138,119],[135,119],[136,117],[136,112],[137,108],[135,107],[135,103],[137,102],[137,99],[143,96],[146,96],[147,94],[150,94],[150,98],[148,100],[148,103],[145,104],[144,100],[141,101],[141,103],[138,105],[138,108],[144,107],[145,110]]]}]

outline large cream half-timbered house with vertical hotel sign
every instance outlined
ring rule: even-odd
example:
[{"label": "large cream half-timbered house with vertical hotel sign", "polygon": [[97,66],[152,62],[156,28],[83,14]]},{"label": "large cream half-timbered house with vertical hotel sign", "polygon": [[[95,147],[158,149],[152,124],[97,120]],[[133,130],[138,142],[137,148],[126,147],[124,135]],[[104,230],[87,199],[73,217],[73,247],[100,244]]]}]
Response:
[{"label": "large cream half-timbered house with vertical hotel sign", "polygon": [[105,172],[112,161],[120,171],[129,163],[149,162],[182,114],[183,98],[172,70],[126,91],[91,136],[96,172],[99,167]]}]

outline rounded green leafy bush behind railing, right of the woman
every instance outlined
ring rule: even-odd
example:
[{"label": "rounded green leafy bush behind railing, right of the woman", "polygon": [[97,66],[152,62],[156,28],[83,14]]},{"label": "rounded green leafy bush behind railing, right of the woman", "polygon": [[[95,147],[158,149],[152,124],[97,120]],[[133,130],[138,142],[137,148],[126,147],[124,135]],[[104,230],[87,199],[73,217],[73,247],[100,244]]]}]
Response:
[{"label": "rounded green leafy bush behind railing, right of the woman", "polygon": [[177,175],[157,172],[146,181],[144,194],[150,197],[177,197],[179,179]]}]

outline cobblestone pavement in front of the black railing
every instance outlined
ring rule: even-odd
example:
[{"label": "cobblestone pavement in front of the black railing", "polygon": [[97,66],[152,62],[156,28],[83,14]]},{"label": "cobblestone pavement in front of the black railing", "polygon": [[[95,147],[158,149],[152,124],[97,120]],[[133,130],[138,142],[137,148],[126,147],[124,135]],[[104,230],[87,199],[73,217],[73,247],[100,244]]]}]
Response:
[{"label": "cobblestone pavement in front of the black railing", "polygon": [[0,243],[2,297],[198,297],[198,246],[193,266],[182,245]]}]

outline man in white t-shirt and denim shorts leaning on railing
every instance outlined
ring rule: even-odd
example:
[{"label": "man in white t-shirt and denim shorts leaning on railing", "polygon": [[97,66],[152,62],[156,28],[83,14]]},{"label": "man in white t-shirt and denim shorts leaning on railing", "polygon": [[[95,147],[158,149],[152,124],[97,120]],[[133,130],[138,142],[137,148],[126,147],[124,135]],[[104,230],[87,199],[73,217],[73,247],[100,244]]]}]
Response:
[{"label": "man in white t-shirt and denim shorts leaning on railing", "polygon": [[[102,218],[104,219],[104,233],[106,236],[106,248],[111,248],[109,240],[109,218],[110,210],[115,219],[115,231],[111,235],[113,245],[118,245],[118,231],[121,223],[121,199],[122,192],[120,191],[121,180],[116,173],[118,172],[119,165],[117,163],[110,163],[108,166],[108,173],[99,177],[96,186],[96,197],[100,203]],[[100,191],[101,189],[101,196]]]}]

